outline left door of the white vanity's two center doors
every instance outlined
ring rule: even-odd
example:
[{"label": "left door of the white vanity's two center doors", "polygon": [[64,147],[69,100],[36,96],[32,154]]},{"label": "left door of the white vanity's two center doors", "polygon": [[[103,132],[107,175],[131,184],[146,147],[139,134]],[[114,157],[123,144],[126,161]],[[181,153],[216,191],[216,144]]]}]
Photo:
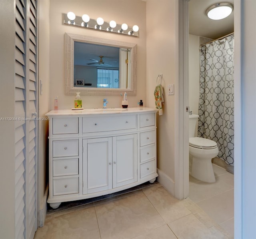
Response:
[{"label": "left door of the white vanity's two center doors", "polygon": [[83,193],[112,188],[112,138],[83,139]]}]

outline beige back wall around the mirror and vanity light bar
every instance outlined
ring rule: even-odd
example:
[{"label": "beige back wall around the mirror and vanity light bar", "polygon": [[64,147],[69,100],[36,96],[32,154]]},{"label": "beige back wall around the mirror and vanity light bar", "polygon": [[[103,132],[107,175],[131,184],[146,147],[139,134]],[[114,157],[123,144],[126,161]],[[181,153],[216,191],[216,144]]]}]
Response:
[{"label": "beige back wall around the mirror and vanity light bar", "polygon": [[[99,16],[106,22],[115,20],[118,24],[140,27],[139,37],[100,32],[62,24],[62,14],[69,11],[77,16],[88,14],[90,18]],[[136,107],[141,99],[146,102],[146,2],[139,0],[54,0],[50,1],[50,110],[54,97],[58,96],[59,109],[74,107],[74,96],[64,95],[64,33],[96,36],[137,44],[137,96],[129,96],[129,107]],[[121,107],[118,96],[81,96],[84,108],[101,108],[102,99],[108,98],[108,107]]]}]

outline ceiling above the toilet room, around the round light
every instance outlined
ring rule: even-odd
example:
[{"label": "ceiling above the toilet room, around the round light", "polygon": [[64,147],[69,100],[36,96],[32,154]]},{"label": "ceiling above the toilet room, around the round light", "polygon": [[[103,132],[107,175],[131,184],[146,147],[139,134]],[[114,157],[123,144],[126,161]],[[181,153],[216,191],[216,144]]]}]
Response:
[{"label": "ceiling above the toilet room, around the round light", "polygon": [[[206,8],[218,2],[224,1],[190,0],[188,2],[190,34],[217,39],[234,32],[234,11],[227,18],[221,20],[212,20],[204,13]],[[225,2],[232,2],[234,4],[234,0],[228,0]]]}]

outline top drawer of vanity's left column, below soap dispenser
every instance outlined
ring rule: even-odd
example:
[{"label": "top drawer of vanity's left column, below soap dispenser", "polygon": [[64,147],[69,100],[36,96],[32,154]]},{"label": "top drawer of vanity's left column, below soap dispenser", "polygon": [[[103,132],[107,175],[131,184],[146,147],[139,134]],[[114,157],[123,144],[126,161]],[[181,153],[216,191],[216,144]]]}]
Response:
[{"label": "top drawer of vanity's left column, below soap dispenser", "polygon": [[78,118],[53,118],[52,134],[78,133]]}]

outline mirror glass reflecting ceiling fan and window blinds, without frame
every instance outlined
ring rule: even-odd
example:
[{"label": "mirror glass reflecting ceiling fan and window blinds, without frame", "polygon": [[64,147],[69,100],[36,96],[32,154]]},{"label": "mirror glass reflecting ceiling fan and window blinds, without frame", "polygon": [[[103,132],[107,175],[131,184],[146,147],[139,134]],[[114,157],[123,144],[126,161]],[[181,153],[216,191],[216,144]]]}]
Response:
[{"label": "mirror glass reflecting ceiling fan and window blinds, without frame", "polygon": [[74,86],[130,87],[130,49],[74,41]]}]

